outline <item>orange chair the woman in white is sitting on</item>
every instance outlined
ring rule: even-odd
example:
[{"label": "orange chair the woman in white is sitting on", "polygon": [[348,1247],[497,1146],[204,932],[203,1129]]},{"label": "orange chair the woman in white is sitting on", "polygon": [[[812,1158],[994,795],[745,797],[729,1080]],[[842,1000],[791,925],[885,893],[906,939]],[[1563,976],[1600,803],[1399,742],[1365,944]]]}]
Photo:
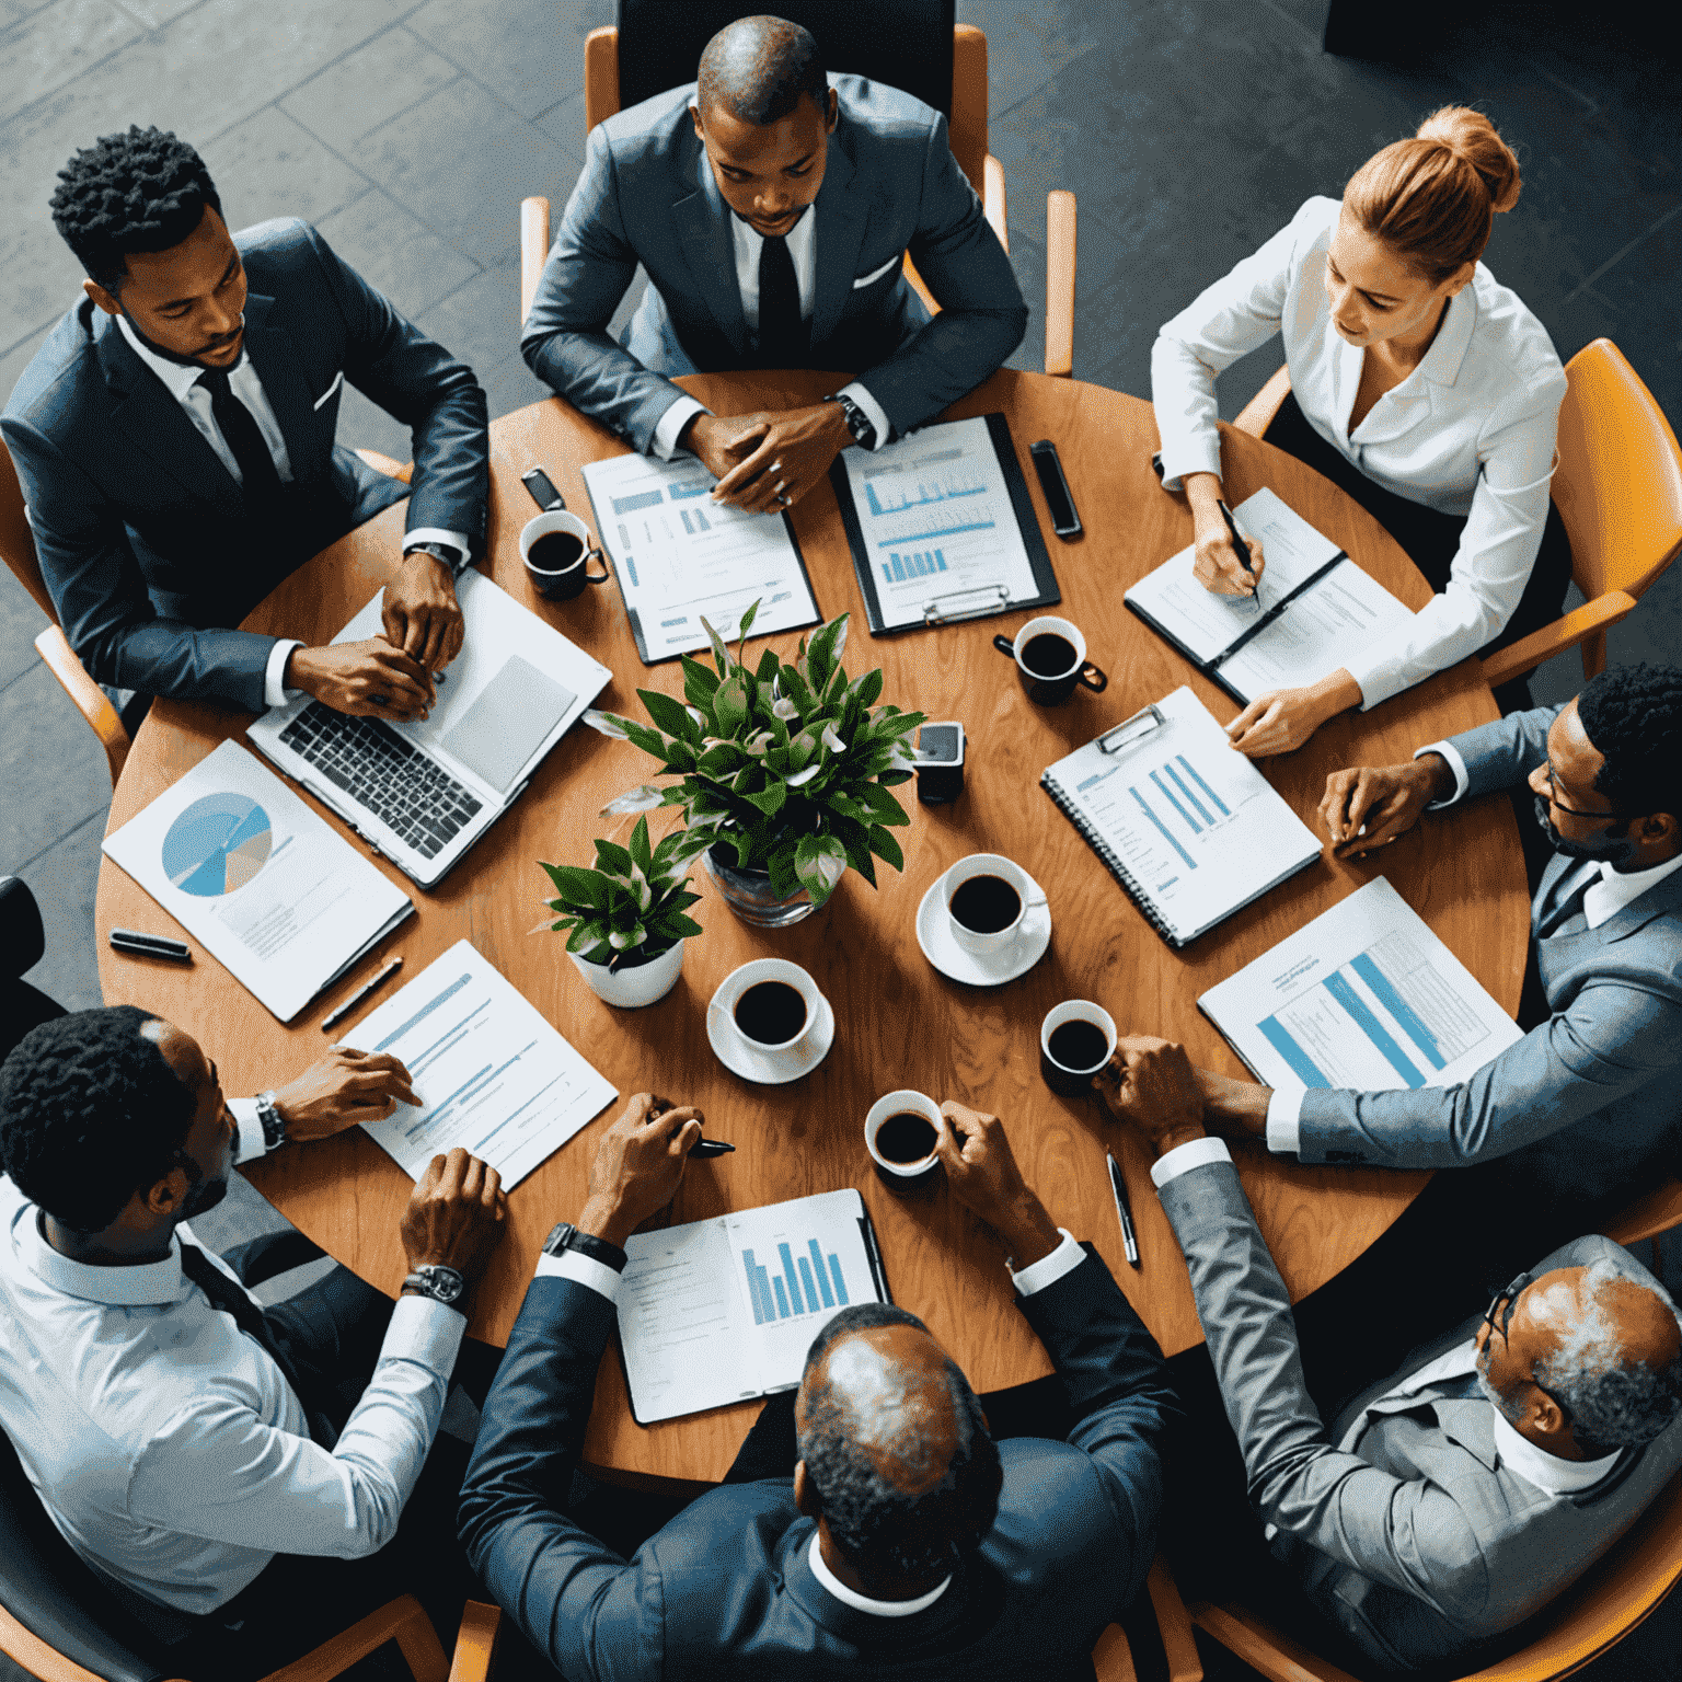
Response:
[{"label": "orange chair the woman in white is sitting on", "polygon": [[[1233,422],[1262,437],[1273,424],[1290,370],[1280,368]],[[1606,669],[1606,627],[1682,552],[1682,449],[1653,394],[1610,338],[1566,363],[1559,405],[1554,505],[1571,538],[1571,577],[1583,606],[1484,661],[1490,688],[1522,678],[1568,648],[1583,649],[1583,676]]]}]

